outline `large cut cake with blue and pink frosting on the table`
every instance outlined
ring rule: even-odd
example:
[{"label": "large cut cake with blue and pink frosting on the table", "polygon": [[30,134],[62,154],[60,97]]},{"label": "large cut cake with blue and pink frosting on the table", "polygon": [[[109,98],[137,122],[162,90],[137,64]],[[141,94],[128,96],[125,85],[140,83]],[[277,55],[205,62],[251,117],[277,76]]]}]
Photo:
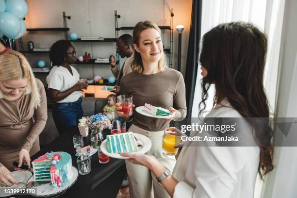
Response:
[{"label": "large cut cake with blue and pink frosting on the table", "polygon": [[66,152],[47,152],[32,162],[35,181],[51,181],[52,187],[64,186],[72,177],[72,160]]}]

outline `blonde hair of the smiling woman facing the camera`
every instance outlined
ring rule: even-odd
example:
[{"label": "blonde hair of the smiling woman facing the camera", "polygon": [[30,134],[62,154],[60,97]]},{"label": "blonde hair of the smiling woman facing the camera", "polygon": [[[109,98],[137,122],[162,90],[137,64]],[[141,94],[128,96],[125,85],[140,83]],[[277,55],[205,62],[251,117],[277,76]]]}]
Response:
[{"label": "blonde hair of the smiling woman facing the camera", "polygon": [[[133,43],[137,47],[139,47],[140,33],[146,29],[149,29],[149,28],[153,28],[161,34],[160,28],[154,22],[146,20],[146,21],[140,21],[135,25],[135,27],[133,29]],[[167,67],[167,56],[164,53],[164,51],[162,50],[162,57],[158,61],[158,69],[161,71],[164,71],[166,67]],[[131,68],[132,68],[132,72],[134,72],[134,73],[141,74],[143,72],[143,64],[142,64],[141,55],[136,50],[134,50],[134,58],[132,61]]]}]

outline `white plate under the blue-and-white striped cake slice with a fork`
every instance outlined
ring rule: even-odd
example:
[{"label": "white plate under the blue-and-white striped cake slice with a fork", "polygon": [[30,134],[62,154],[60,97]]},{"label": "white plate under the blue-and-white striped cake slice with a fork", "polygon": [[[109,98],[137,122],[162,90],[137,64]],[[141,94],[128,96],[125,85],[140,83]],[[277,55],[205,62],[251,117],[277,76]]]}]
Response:
[{"label": "white plate under the blue-and-white striped cake slice with a fork", "polygon": [[[148,139],[148,137],[142,135],[142,134],[138,134],[138,133],[134,133],[133,135],[137,138],[138,142],[142,145],[142,147],[138,147],[138,151],[133,152],[133,153],[146,153],[148,152],[148,150],[151,148],[151,141],[150,139]],[[109,153],[107,150],[107,146],[106,146],[106,139],[101,143],[101,151],[112,158],[116,158],[116,159],[129,159],[129,157],[123,157],[120,156],[120,154],[117,153]]]}]

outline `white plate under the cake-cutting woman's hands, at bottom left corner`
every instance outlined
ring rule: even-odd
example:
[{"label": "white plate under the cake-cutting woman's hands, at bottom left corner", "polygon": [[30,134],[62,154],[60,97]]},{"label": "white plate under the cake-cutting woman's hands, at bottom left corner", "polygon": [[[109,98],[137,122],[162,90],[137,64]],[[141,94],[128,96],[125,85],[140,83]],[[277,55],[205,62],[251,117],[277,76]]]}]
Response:
[{"label": "white plate under the cake-cutting woman's hands, at bottom left corner", "polygon": [[[19,182],[23,182],[26,183],[29,178],[32,176],[32,173],[28,170],[26,171],[13,171],[11,172],[13,178],[15,178],[17,181]],[[4,194],[4,189],[12,189],[12,188],[24,188],[25,185],[23,183],[19,183],[19,184],[14,184],[10,187],[0,187],[0,197],[6,197],[6,196],[11,196],[14,195],[16,193],[5,193]]]}]

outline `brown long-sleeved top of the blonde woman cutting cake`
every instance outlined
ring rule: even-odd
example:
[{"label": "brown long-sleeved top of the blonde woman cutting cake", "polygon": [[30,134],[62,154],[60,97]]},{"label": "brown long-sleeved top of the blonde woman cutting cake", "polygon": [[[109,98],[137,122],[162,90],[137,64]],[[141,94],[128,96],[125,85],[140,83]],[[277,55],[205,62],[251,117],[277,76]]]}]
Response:
[{"label": "brown long-sleeved top of the blonde woman cutting cake", "polygon": [[48,110],[44,86],[38,79],[36,83],[41,99],[37,109],[30,108],[30,94],[15,101],[0,99],[0,167],[11,171],[21,148],[30,151],[30,156],[40,150],[39,134],[47,122]]}]

